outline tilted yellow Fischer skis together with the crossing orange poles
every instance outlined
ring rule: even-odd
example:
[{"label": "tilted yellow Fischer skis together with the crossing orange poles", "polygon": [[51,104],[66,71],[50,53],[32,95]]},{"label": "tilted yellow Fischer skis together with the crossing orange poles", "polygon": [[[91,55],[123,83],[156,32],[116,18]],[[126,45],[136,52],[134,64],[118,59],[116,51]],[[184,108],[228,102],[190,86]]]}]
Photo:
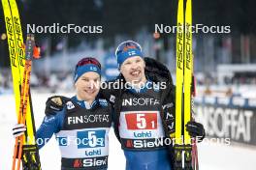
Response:
[{"label": "tilted yellow Fischer skis together with the crossing orange poles", "polygon": [[31,53],[35,52],[33,51],[34,38],[33,36],[28,35],[25,52],[16,0],[2,0],[2,6],[5,15],[14,94],[16,99],[17,123],[23,123],[27,128],[24,135],[16,138],[12,169],[19,170],[22,160],[22,169],[40,170],[41,164],[35,140],[35,123],[29,90],[32,59]]}]

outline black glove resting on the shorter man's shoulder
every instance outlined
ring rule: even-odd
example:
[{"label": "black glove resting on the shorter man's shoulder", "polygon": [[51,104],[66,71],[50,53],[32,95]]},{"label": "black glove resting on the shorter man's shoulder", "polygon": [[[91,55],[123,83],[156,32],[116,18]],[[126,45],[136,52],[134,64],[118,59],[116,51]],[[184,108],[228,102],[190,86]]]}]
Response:
[{"label": "black glove resting on the shorter man's shoulder", "polygon": [[56,112],[63,109],[63,106],[67,100],[68,98],[62,97],[62,96],[49,97],[46,102],[46,110],[45,110],[46,115],[47,116],[55,115]]}]

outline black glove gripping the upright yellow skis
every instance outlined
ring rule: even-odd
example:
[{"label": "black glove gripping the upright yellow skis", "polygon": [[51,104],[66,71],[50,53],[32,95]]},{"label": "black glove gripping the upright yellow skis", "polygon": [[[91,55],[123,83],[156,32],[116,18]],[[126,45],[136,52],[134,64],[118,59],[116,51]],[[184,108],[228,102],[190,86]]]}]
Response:
[{"label": "black glove gripping the upright yellow skis", "polygon": [[186,130],[188,131],[190,136],[197,138],[198,142],[202,142],[206,136],[204,126],[194,121],[189,121],[187,123]]}]

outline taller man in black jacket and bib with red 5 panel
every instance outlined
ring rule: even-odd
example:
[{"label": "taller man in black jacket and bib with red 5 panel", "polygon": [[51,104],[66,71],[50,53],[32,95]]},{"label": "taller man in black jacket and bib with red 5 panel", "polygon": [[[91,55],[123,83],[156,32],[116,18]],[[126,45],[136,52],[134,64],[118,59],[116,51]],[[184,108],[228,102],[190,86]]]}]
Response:
[{"label": "taller man in black jacket and bib with red 5 panel", "polygon": [[[175,86],[170,71],[151,58],[144,58],[138,42],[121,42],[115,50],[119,84],[103,89],[114,108],[113,123],[126,157],[126,170],[171,170],[174,149],[170,139],[175,132]],[[203,125],[189,122],[193,137],[205,136]],[[164,140],[166,141],[166,140]]]}]

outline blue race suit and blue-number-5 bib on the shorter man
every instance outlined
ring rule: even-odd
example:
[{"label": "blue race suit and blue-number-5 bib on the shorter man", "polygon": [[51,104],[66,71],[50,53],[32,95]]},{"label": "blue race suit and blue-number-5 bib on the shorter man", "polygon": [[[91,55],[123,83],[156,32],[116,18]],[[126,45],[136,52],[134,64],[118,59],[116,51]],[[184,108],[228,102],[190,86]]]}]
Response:
[{"label": "blue race suit and blue-number-5 bib on the shorter man", "polygon": [[[45,117],[36,133],[38,146],[44,147],[55,134],[61,151],[62,170],[106,170],[111,114],[112,108],[106,99],[95,99],[89,105],[73,97],[61,111]],[[68,138],[74,136],[85,142],[68,144]]]}]

